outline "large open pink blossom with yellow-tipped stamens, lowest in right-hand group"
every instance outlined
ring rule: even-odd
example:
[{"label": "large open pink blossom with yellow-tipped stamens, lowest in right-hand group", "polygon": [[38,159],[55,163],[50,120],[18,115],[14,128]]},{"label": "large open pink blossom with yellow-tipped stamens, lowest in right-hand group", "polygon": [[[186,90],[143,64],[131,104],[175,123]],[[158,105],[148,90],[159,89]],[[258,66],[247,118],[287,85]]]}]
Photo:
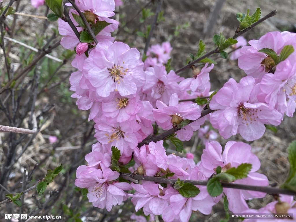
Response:
[{"label": "large open pink blossom with yellow-tipped stamens, lowest in right-hand group", "polygon": [[251,76],[242,78],[239,83],[230,79],[213,96],[210,108],[217,111],[211,115],[210,122],[223,138],[240,133],[242,138],[252,141],[263,136],[264,124],[277,126],[281,123],[281,113],[258,101],[259,86],[255,85]]}]

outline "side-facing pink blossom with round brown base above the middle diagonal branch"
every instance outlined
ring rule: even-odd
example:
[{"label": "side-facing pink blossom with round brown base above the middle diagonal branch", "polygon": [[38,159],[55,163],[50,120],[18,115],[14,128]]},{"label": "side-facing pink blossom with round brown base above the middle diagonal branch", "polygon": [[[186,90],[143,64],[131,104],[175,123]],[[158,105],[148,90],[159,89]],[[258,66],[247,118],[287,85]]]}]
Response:
[{"label": "side-facing pink blossom with round brown base above the middle diagonal branch", "polygon": [[[178,123],[185,119],[196,120],[193,123],[184,126],[184,129],[176,132],[178,138],[183,141],[190,140],[193,131],[198,130],[200,125],[205,121],[204,118],[197,120],[200,118],[201,111],[199,111],[199,106],[196,103],[179,104],[179,98],[176,93],[170,97],[169,106],[159,100],[157,100],[156,106],[157,109],[153,109],[152,112],[153,117],[156,120],[156,123],[163,129],[176,127]],[[174,119],[178,120],[178,123],[175,123]]]}]

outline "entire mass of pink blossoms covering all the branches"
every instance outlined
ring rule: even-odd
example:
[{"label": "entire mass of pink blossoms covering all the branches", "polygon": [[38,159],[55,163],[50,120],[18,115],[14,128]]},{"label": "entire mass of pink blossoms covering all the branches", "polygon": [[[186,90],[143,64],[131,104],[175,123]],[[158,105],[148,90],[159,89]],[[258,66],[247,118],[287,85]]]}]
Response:
[{"label": "entire mass of pink blossoms covering all the branches", "polygon": [[[114,148],[120,151],[120,166],[127,165],[133,158],[135,165],[128,168],[133,174],[207,181],[218,173],[218,168],[223,173],[247,163],[252,165],[247,176],[232,182],[268,186],[267,177],[256,172],[260,161],[252,154],[250,145],[229,141],[222,153],[221,145],[213,141],[217,133],[210,126],[200,128],[209,120],[209,117],[201,116],[204,106],[188,101],[212,94],[209,72],[214,64],[193,66],[192,77],[184,79],[166,65],[172,50],[169,42],[151,46],[142,62],[143,57],[137,49],[114,41],[111,36],[119,24],[111,18],[118,2],[75,1],[81,12],[88,15],[90,25],[100,21],[108,23],[96,35],[98,44],[80,42],[67,22],[58,21],[59,33],[64,36],[62,46],[76,51],[72,66],[78,71],[70,77],[70,90],[75,92],[72,97],[77,98],[79,109],[90,110],[89,121],[95,122],[98,141],[85,157],[88,164],[78,167],[75,185],[88,189],[87,197],[95,207],[106,207],[110,211],[112,206],[131,197],[136,211],[143,208],[145,215],[162,215],[168,222],[189,221],[192,210],[210,214],[223,194],[229,202],[229,210],[246,212],[249,210],[246,200],[262,198],[265,194],[224,188],[220,195],[212,197],[206,186],[195,186],[199,193],[187,197],[177,186],[169,184],[119,182],[120,173],[114,171],[113,165]],[[87,32],[75,20],[78,14],[70,9],[69,15],[77,31]],[[264,124],[279,125],[284,113],[292,116],[296,106],[295,52],[287,57],[281,56],[281,52],[287,50],[286,46],[296,48],[295,37],[293,33],[273,32],[249,41],[251,46],[243,46],[243,41],[235,46],[243,46],[238,64],[248,76],[239,83],[230,79],[212,94],[209,107],[216,111],[209,115],[210,122],[221,136],[229,138],[240,133],[245,140],[252,141],[263,135]],[[276,53],[278,63],[273,55],[259,52],[266,48]],[[167,155],[163,140],[138,147],[147,136],[158,133],[157,127],[177,129],[186,119],[192,120],[191,123],[172,136],[188,141],[193,132],[200,129],[198,136],[205,149],[199,163],[194,162],[194,155],[190,153],[186,158],[174,153]],[[125,192],[131,189],[136,192]],[[133,218],[136,219],[136,215]]]}]

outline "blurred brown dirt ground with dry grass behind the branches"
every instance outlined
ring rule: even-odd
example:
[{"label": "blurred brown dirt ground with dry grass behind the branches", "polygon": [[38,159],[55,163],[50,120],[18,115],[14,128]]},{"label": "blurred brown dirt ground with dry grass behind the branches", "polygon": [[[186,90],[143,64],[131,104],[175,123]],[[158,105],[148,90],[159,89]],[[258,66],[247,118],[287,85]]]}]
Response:
[{"label": "blurred brown dirt ground with dry grass behind the branches", "polygon": [[[141,6],[144,6],[148,1],[147,0],[125,0],[122,7],[116,9],[119,12],[120,16],[116,18],[119,22],[130,20],[136,12],[139,11]],[[154,32],[154,35],[151,39],[151,44],[161,44],[163,41],[170,40],[171,45],[173,47],[173,51],[171,53],[173,57],[172,66],[174,70],[182,67],[186,64],[186,59],[189,58],[189,53],[194,54],[197,50],[197,45],[200,39],[203,39],[206,42],[207,51],[213,49],[214,45],[209,38],[205,38],[205,34],[203,33],[203,28],[207,18],[210,14],[210,10],[215,4],[215,0],[164,0],[162,10],[164,10],[165,21],[161,21]],[[5,1],[4,1],[5,4]],[[155,6],[151,6],[152,12],[156,9],[157,1],[155,1]],[[277,14],[271,19],[260,24],[258,27],[255,27],[251,31],[244,34],[244,37],[249,41],[252,39],[258,39],[260,36],[267,32],[271,31],[296,31],[296,4],[294,0],[244,0],[244,1],[234,1],[227,0],[225,1],[223,8],[221,9],[221,13],[218,17],[217,24],[213,28],[213,33],[222,32],[224,36],[231,37],[234,35],[234,31],[238,26],[238,21],[236,20],[235,14],[237,12],[247,12],[247,9],[250,9],[250,13],[255,12],[257,7],[261,8],[261,17],[265,16],[272,10],[276,9]],[[23,10],[21,12],[31,15],[44,16],[46,13],[46,7],[41,6],[37,11],[30,6],[28,0],[22,0],[20,3],[20,8]],[[145,28],[148,24],[150,24],[153,20],[153,17],[149,18],[144,22],[144,24],[139,24],[138,15],[132,22],[127,25],[129,30],[135,30],[135,27],[138,27],[138,30],[145,31]],[[188,22],[187,28],[181,28],[180,34],[178,36],[174,36],[175,27],[184,26]],[[46,33],[50,33],[50,28],[57,27],[57,22],[46,22],[41,18],[31,18],[25,16],[19,16],[17,20],[17,25],[21,32],[15,36],[17,39],[24,39],[26,42],[34,41],[36,39],[35,33],[40,34],[41,27],[43,28],[46,25],[49,25]],[[186,26],[186,25],[185,25]],[[174,29],[175,28],[175,29]],[[118,36],[115,36],[117,41],[127,40],[127,43],[130,46],[136,47],[140,51],[144,49],[145,41],[143,37],[137,36],[136,34],[130,34],[124,30],[121,30]],[[62,47],[59,46],[53,55],[59,57],[59,54],[63,51]],[[18,55],[19,49],[18,46],[15,45],[12,49],[12,54]],[[229,59],[221,59],[218,58],[217,55],[212,57],[218,62],[217,65],[214,66],[213,70],[210,72],[211,79],[211,90],[220,89],[224,83],[226,83],[229,78],[234,78],[239,81],[242,77],[246,76],[242,70],[240,70],[237,66],[237,61],[230,61]],[[16,64],[19,62],[17,58],[13,60]],[[58,75],[60,78],[67,77],[69,72],[73,72],[74,69],[70,65],[71,59],[67,62],[67,64],[59,71]],[[185,71],[181,73],[181,76],[188,77],[190,71]],[[28,77],[29,78],[29,77]],[[65,84],[65,89],[69,87],[68,78],[63,83]],[[57,152],[49,159],[40,171],[36,172],[36,179],[42,177],[44,175],[47,168],[52,168],[53,166],[59,165],[59,163],[63,163],[65,166],[70,166],[80,159],[79,164],[84,164],[83,157],[79,157],[79,155],[83,155],[83,153],[87,153],[91,151],[91,144],[95,143],[94,137],[90,137],[86,146],[83,149],[79,149],[81,144],[83,144],[83,139],[85,138],[85,132],[89,131],[89,127],[93,123],[87,123],[87,111],[78,110],[75,105],[75,99],[70,99],[70,101],[65,101],[63,98],[71,93],[69,91],[64,91],[61,96],[61,91],[56,90],[57,88],[49,89],[49,91],[41,94],[38,98],[38,104],[40,107],[44,104],[55,104],[54,111],[50,115],[50,122],[48,127],[41,132],[40,138],[36,139],[35,143],[28,149],[25,153],[25,157],[20,159],[20,163],[15,165],[15,179],[12,179],[8,186],[12,188],[16,181],[21,178],[22,173],[19,169],[21,169],[24,165],[30,165],[37,163],[38,160],[42,159],[43,155],[46,155],[51,152],[52,145],[48,144],[47,138],[49,135],[59,134],[62,135],[67,131],[64,140],[57,149]],[[66,99],[66,98],[65,98]],[[75,111],[76,110],[76,111]],[[2,114],[0,114],[2,115]],[[278,183],[281,184],[288,173],[289,164],[287,161],[287,152],[286,149],[288,144],[296,139],[296,117],[288,118],[285,117],[280,126],[277,126],[277,133],[266,130],[264,136],[254,142],[249,142],[252,146],[252,151],[259,157],[261,161],[260,173],[265,174],[270,184]],[[1,116],[2,121],[5,122],[5,118]],[[72,124],[72,125],[71,125]],[[70,127],[71,126],[71,127]],[[69,130],[69,131],[68,131]],[[4,134],[1,134],[2,139],[4,139]],[[229,140],[235,141],[244,141],[241,136],[236,135],[232,136],[230,139],[226,140],[219,136],[218,142],[221,143],[222,147]],[[186,143],[186,148],[189,149],[192,147],[194,141],[194,137],[188,143]],[[244,141],[246,142],[246,141]],[[74,147],[74,148],[73,148]],[[76,147],[76,148],[75,148]],[[198,149],[196,151],[197,160],[200,160],[199,157],[202,154],[202,149]],[[3,150],[1,150],[1,155],[3,155]],[[78,152],[79,151],[79,152]],[[77,163],[75,162],[75,163]],[[69,184],[73,184],[75,180],[75,173],[69,174],[69,178],[67,179],[67,189],[72,189],[72,186]],[[60,181],[63,181],[62,178],[58,178],[57,181],[50,185],[50,189],[54,190],[61,186]],[[64,189],[64,192],[67,192],[67,189]],[[70,195],[73,194],[70,192]],[[31,194],[30,194],[31,195]],[[29,196],[27,196],[30,198]],[[61,197],[60,200],[66,200],[69,197]],[[77,200],[81,201],[81,197],[77,196]],[[266,205],[266,203],[270,202],[272,197],[267,195],[265,198],[256,201],[250,201],[250,207],[254,207],[256,209]],[[34,200],[28,200],[27,204],[30,206],[33,204]],[[87,202],[87,201],[84,201]],[[68,204],[71,208],[71,204]],[[86,207],[89,205],[85,204]],[[59,206],[60,207],[60,206]],[[9,207],[11,208],[11,207]],[[28,207],[30,208],[30,207]],[[118,221],[129,221],[129,216],[133,209],[128,209],[126,215],[116,214],[118,211],[118,207],[114,207],[114,210],[111,211],[109,219],[105,221],[114,221],[117,219]],[[85,212],[85,211],[84,211]],[[92,213],[90,213],[92,212]],[[119,211],[118,211],[119,212]],[[89,210],[89,217],[87,217],[86,221],[94,221],[98,219],[102,219],[103,215],[106,214],[106,211],[99,211],[94,208]],[[112,214],[113,213],[113,214]],[[114,215],[118,215],[115,217]],[[119,217],[120,216],[120,217]],[[201,213],[194,213],[191,221],[219,221],[224,216],[223,204],[219,203],[215,207],[213,207],[213,211],[210,215],[204,216]],[[105,215],[106,217],[106,215]],[[108,218],[108,216],[106,217]],[[1,220],[1,219],[0,219]],[[64,221],[64,220],[62,220]],[[65,221],[67,221],[65,219]],[[101,220],[104,221],[104,218]]]}]

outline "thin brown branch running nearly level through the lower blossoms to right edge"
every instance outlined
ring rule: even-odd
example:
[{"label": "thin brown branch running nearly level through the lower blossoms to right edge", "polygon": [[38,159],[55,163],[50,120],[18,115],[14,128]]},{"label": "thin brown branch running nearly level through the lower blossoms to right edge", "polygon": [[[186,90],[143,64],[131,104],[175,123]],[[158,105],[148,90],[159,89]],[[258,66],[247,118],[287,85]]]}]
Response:
[{"label": "thin brown branch running nearly level through the lower blossoms to right edge", "polygon": [[[152,181],[157,183],[173,185],[178,181],[176,179],[166,179],[166,178],[154,177],[154,176],[140,176],[140,175],[130,175],[128,173],[121,173],[120,177],[123,177],[123,176],[125,176],[125,178],[134,179],[138,181],[138,183],[139,183],[139,180],[144,180],[144,181]],[[181,181],[184,181],[185,183],[191,183],[193,185],[198,185],[198,186],[207,186],[207,181],[205,180],[181,180]],[[296,195],[296,192],[292,190],[275,188],[270,186],[252,186],[252,185],[224,183],[224,182],[221,182],[221,184],[222,184],[222,187],[224,188],[252,190],[252,191],[258,191],[258,192],[263,192],[267,194],[286,194],[286,195],[292,195],[292,196]]]}]

